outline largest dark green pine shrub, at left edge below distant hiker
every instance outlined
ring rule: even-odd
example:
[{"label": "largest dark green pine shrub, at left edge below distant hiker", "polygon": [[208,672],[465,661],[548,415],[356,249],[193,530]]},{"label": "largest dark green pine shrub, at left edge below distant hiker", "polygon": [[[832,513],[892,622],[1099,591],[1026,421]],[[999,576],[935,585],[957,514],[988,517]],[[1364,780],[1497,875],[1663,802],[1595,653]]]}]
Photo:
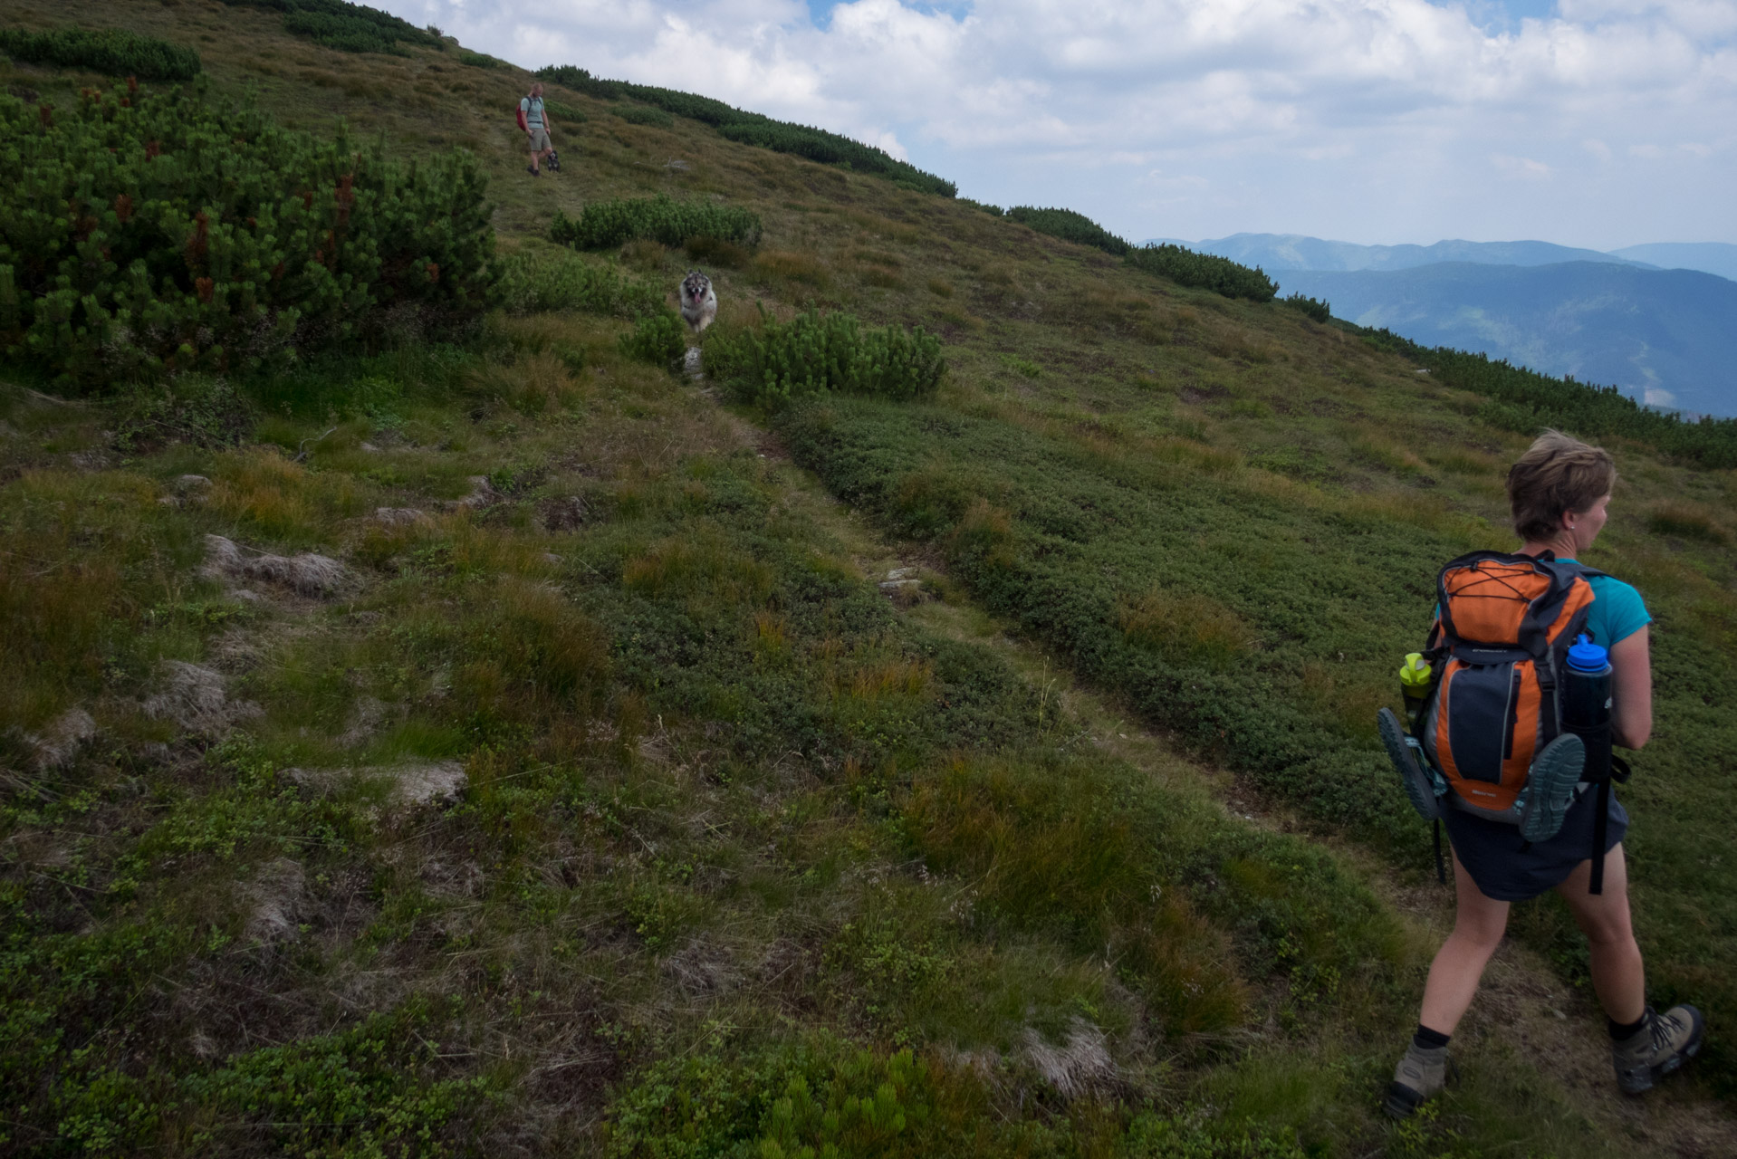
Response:
[{"label": "largest dark green pine shrub, at left edge below distant hiker", "polygon": [[408,169],[195,87],[0,96],[0,351],[85,389],[252,368],[367,334],[387,309],[485,304],[486,182]]}]

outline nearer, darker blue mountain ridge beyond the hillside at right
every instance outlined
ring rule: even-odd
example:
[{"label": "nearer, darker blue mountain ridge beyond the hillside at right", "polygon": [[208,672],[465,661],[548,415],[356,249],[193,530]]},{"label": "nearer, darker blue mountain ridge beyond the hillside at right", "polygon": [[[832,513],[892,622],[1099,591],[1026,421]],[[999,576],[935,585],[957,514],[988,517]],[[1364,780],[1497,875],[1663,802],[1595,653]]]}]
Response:
[{"label": "nearer, darker blue mountain ridge beyond the hillside at right", "polygon": [[1582,382],[1655,407],[1737,415],[1737,281],[1610,261],[1438,262],[1410,269],[1273,271],[1365,327]]}]

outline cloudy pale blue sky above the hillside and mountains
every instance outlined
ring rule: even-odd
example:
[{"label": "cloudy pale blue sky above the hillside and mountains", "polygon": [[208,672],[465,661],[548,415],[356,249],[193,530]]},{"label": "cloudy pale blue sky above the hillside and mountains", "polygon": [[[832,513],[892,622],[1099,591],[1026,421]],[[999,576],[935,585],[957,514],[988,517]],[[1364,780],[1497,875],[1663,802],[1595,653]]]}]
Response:
[{"label": "cloudy pale blue sky above the hillside and mountains", "polygon": [[372,0],[1139,242],[1737,243],[1737,0]]}]

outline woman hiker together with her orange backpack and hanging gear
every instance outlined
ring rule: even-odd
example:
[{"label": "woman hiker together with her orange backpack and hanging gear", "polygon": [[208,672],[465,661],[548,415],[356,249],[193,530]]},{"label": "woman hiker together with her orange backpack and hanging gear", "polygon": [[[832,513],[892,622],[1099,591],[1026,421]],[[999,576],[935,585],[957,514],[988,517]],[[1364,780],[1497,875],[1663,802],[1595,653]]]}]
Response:
[{"label": "woman hiker together with her orange backpack and hanging gear", "polygon": [[[1445,1084],[1449,1037],[1503,940],[1509,904],[1546,890],[1586,935],[1617,1086],[1640,1095],[1701,1050],[1699,1010],[1647,1004],[1622,857],[1628,813],[1610,792],[1612,768],[1619,777],[1628,768],[1608,756],[1610,742],[1640,749],[1652,733],[1652,615],[1633,587],[1577,563],[1605,525],[1615,478],[1598,447],[1558,431],[1532,443],[1508,471],[1523,546],[1447,565],[1430,650],[1407,657],[1407,669],[1431,681],[1417,699],[1416,737],[1390,709],[1379,714],[1412,805],[1447,829],[1457,898],[1417,1032],[1388,1088],[1397,1119]],[[1562,690],[1595,667],[1608,681],[1608,726],[1582,732]]]}]

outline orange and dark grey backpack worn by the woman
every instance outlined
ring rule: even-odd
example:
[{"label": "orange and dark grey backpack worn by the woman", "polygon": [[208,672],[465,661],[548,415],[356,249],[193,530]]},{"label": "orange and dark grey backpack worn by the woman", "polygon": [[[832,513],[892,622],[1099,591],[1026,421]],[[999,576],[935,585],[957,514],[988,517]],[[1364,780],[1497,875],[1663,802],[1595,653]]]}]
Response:
[{"label": "orange and dark grey backpack worn by the woman", "polygon": [[1595,575],[1548,551],[1475,551],[1442,568],[1417,732],[1456,808],[1518,824],[1532,759],[1562,733],[1562,678]]}]

